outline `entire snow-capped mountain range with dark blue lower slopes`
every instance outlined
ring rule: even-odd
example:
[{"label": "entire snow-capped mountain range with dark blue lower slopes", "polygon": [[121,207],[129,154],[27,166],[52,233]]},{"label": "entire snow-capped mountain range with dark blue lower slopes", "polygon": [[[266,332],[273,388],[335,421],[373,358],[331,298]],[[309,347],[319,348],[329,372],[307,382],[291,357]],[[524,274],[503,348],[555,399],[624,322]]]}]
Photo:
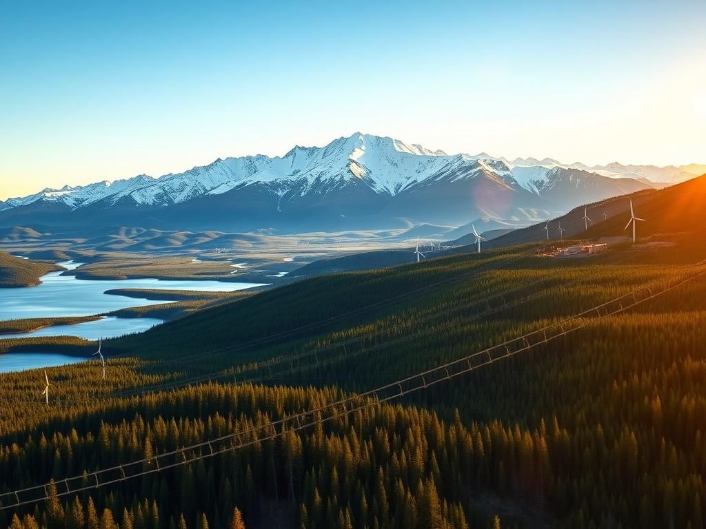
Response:
[{"label": "entire snow-capped mountain range with dark blue lower slopes", "polygon": [[469,209],[529,221],[647,188],[649,181],[682,181],[699,171],[706,172],[706,166],[587,167],[532,158],[509,162],[485,153],[449,155],[356,133],[324,147],[297,146],[282,157],[217,159],[159,178],[142,174],[44,189],[0,202],[0,224],[20,219],[76,223],[90,215],[104,223],[131,219],[134,225],[146,221],[251,229],[294,223],[324,229],[327,223],[332,228],[379,226],[385,218],[463,224]]}]

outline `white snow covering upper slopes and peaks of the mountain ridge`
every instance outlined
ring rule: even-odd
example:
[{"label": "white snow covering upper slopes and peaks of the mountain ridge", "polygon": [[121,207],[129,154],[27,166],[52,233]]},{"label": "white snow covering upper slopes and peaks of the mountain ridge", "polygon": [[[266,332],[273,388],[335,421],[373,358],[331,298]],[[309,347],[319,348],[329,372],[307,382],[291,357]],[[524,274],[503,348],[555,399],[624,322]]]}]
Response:
[{"label": "white snow covering upper slopes and peaks of the mountain ridge", "polygon": [[[697,169],[702,167],[694,166]],[[29,205],[40,200],[64,204],[71,209],[97,202],[104,207],[118,202],[160,207],[253,185],[268,186],[270,193],[280,197],[288,189],[295,188],[301,195],[318,193],[323,197],[329,190],[340,186],[369,186],[376,193],[396,195],[425,181],[475,178],[479,174],[502,181],[507,186],[519,186],[539,194],[549,186],[551,171],[557,168],[590,171],[612,178],[645,177],[653,181],[658,176],[676,180],[690,174],[686,172],[686,166],[660,169],[654,166],[623,166],[614,162],[591,168],[578,162],[565,165],[551,158],[541,161],[517,158],[508,162],[505,158],[491,157],[485,152],[474,156],[449,155],[441,150],[432,151],[393,138],[354,133],[337,138],[323,147],[296,145],[282,157],[258,154],[218,158],[208,165],[158,178],[140,174],[87,186],[47,188],[35,195],[0,202],[0,209]]]}]

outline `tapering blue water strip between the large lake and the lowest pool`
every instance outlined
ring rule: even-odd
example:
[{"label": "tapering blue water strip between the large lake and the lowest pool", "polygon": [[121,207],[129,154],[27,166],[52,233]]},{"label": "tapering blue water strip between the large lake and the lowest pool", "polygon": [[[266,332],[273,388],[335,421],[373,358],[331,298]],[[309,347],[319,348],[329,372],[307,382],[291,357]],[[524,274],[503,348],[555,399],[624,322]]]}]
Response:
[{"label": "tapering blue water strip between the large lake and the lowest pool", "polygon": [[119,318],[106,316],[95,322],[83,322],[71,325],[52,325],[32,332],[18,334],[0,334],[0,339],[35,338],[36,336],[78,336],[86,340],[99,338],[117,338],[124,334],[143,332],[164,320],[157,318]]}]

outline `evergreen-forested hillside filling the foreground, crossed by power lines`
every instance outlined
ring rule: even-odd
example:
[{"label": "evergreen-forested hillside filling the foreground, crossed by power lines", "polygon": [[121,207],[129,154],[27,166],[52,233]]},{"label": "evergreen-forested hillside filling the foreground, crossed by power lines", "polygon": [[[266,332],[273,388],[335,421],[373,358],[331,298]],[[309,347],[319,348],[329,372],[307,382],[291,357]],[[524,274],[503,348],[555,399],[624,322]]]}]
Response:
[{"label": "evergreen-forested hillside filling the foreground, crossed by power lines", "polygon": [[0,526],[700,528],[705,242],[308,279],[49,369],[48,406],[3,375]]}]

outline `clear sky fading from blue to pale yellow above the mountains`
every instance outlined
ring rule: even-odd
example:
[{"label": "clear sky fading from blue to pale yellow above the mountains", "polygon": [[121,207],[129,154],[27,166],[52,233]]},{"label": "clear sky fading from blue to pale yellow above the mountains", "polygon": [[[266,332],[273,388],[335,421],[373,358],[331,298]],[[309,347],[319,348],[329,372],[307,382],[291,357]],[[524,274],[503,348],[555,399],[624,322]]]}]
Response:
[{"label": "clear sky fading from blue to pale yellow above the mountains", "polygon": [[355,131],[706,162],[704,0],[377,4],[0,0],[0,200]]}]

